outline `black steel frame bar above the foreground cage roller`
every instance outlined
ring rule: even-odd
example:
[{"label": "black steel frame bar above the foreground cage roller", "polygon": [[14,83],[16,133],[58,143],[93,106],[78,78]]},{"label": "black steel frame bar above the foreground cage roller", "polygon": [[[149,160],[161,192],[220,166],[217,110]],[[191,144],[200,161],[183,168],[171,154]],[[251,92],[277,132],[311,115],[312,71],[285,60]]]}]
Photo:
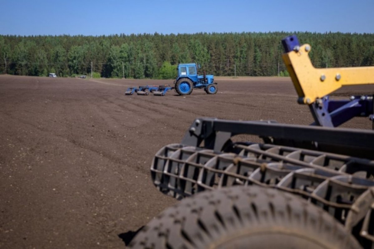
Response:
[{"label": "black steel frame bar above the foreground cage roller", "polygon": [[204,148],[222,151],[230,138],[237,134],[257,135],[270,144],[305,144],[306,148],[315,150],[344,150],[341,154],[374,157],[372,130],[279,124],[274,121],[198,118],[191,124],[181,143],[199,147],[204,142]]}]

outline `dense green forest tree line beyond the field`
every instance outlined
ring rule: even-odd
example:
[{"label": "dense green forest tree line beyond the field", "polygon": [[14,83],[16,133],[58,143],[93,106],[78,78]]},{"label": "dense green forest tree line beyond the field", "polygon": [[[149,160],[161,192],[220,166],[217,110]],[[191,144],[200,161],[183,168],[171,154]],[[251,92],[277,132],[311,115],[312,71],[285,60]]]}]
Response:
[{"label": "dense green forest tree line beyond the field", "polygon": [[[170,78],[168,68],[196,62],[217,76],[285,73],[281,39],[291,33],[0,36],[0,74]],[[374,34],[297,33],[316,68],[374,65]],[[174,66],[172,66],[174,65]]]}]

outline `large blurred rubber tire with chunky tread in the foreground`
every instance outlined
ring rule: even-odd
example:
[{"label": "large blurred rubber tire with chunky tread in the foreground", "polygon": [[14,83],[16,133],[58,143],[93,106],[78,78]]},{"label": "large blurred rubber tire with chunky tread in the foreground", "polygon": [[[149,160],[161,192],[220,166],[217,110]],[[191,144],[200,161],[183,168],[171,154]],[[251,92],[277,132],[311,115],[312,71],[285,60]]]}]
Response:
[{"label": "large blurred rubber tire with chunky tread in the foreground", "polygon": [[361,248],[324,210],[276,189],[234,186],[183,199],[151,220],[130,248]]}]

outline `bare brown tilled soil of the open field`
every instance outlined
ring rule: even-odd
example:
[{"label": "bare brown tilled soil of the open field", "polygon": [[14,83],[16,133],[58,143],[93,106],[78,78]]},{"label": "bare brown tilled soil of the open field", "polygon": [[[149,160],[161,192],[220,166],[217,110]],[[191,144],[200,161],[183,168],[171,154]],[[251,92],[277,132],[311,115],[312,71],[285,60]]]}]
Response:
[{"label": "bare brown tilled soil of the open field", "polygon": [[[150,180],[154,154],[197,117],[309,124],[289,78],[221,78],[218,93],[125,96],[172,80],[0,76],[0,248],[125,248],[174,204]],[[373,86],[336,96],[374,94]],[[367,118],[345,126],[370,129]]]}]

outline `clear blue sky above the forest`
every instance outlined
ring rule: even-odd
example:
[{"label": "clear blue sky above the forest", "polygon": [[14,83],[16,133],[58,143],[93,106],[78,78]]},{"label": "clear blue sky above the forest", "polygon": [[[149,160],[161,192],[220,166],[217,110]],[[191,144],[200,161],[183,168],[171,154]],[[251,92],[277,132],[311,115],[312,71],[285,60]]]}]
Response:
[{"label": "clear blue sky above the forest", "polygon": [[374,33],[374,0],[0,0],[0,34]]}]

